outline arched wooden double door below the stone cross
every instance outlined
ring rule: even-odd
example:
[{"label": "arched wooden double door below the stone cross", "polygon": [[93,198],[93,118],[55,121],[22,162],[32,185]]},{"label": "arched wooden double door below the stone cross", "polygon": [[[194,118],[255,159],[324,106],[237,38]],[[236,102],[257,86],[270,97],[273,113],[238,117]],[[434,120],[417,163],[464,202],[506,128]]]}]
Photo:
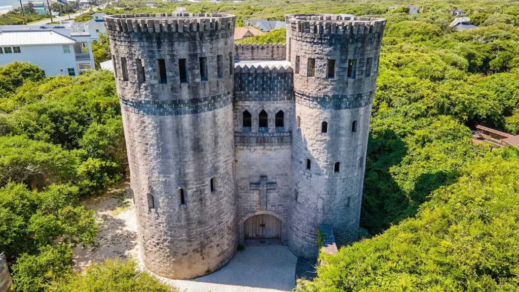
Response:
[{"label": "arched wooden double door below the stone cross", "polygon": [[245,245],[281,244],[281,220],[260,214],[245,220],[243,224]]}]

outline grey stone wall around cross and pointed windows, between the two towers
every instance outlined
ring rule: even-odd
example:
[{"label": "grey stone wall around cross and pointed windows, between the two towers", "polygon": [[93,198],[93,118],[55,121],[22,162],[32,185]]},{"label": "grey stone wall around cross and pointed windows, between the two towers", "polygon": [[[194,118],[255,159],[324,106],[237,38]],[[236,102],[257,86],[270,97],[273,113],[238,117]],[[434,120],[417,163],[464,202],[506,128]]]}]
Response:
[{"label": "grey stone wall around cross and pointed windows, between the two towers", "polygon": [[[281,240],[288,243],[290,200],[290,156],[293,116],[293,74],[290,67],[235,68],[235,151],[238,240],[243,242],[243,222],[251,216],[269,214],[281,220]],[[268,127],[260,130],[258,115],[268,113]],[[243,127],[243,112],[252,115],[252,127]],[[283,111],[284,126],[276,127],[275,116]],[[267,176],[276,188],[267,190],[262,206],[253,182]]]}]

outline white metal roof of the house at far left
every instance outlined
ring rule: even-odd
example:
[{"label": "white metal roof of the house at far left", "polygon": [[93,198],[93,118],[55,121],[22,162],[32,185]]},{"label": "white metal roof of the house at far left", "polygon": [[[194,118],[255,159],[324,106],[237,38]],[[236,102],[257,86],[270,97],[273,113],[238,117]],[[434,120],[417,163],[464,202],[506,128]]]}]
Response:
[{"label": "white metal roof of the house at far left", "polygon": [[0,46],[66,45],[74,44],[73,38],[54,31],[3,31]]}]

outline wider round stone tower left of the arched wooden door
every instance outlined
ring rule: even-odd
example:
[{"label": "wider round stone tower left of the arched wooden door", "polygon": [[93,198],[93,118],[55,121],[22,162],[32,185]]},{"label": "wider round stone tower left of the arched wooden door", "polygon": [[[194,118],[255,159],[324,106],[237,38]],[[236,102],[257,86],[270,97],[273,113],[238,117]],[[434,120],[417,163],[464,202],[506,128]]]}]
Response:
[{"label": "wider round stone tower left of the arched wooden door", "polygon": [[193,278],[236,250],[235,16],[105,18],[145,266]]}]

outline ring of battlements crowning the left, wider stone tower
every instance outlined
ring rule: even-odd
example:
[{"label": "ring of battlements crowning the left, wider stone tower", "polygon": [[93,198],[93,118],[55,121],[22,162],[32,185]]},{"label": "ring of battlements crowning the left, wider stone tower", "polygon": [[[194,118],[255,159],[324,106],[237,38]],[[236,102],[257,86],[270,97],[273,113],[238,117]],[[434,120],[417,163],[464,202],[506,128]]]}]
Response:
[{"label": "ring of battlements crowning the left, wider stone tower", "polygon": [[105,16],[106,28],[125,33],[186,33],[232,30],[236,16],[230,14],[120,14]]}]

